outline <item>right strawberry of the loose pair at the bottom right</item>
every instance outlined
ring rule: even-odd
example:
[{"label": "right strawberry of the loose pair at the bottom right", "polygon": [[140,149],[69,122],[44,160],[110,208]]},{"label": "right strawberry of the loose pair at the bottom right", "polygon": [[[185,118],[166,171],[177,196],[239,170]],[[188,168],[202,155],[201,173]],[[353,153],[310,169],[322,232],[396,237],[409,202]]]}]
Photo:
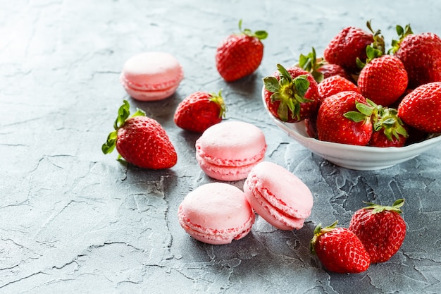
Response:
[{"label": "right strawberry of the loose pair at the bottom right", "polygon": [[361,240],[371,263],[386,262],[395,255],[406,236],[406,223],[400,215],[404,199],[390,206],[368,203],[355,212],[349,230]]}]

